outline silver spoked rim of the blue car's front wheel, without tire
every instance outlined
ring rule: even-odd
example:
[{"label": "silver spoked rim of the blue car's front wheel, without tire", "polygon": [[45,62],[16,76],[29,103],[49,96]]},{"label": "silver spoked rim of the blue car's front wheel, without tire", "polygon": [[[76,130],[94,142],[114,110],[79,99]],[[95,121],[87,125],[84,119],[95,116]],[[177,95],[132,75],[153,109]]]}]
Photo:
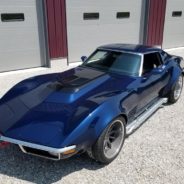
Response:
[{"label": "silver spoked rim of the blue car's front wheel, without tire", "polygon": [[120,120],[115,120],[108,128],[104,140],[104,155],[111,159],[115,157],[124,141],[124,125]]}]

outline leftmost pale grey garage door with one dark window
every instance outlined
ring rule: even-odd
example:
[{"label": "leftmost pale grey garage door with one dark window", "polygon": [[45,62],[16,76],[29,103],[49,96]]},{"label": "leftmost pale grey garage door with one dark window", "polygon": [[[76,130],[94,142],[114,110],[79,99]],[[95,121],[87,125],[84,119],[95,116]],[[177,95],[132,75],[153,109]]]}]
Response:
[{"label": "leftmost pale grey garage door with one dark window", "polygon": [[0,71],[45,65],[41,9],[41,0],[0,0]]}]

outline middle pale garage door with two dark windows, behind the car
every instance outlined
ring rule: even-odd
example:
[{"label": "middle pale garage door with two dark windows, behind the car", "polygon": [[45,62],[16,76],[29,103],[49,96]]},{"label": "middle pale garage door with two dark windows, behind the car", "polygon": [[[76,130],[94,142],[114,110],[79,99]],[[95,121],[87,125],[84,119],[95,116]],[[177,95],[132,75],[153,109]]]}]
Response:
[{"label": "middle pale garage door with two dark windows, behind the car", "polygon": [[139,43],[142,0],[67,0],[69,62],[108,43]]}]

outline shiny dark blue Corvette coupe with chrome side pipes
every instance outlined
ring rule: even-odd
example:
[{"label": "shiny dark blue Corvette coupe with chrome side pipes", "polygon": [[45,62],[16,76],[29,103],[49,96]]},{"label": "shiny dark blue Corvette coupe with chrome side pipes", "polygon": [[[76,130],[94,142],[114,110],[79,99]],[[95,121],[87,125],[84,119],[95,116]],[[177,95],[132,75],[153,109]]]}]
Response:
[{"label": "shiny dark blue Corvette coupe with chrome side pipes", "polygon": [[82,60],[9,90],[0,99],[0,140],[53,160],[87,151],[108,164],[127,135],[181,95],[183,59],[161,49],[112,44]]}]

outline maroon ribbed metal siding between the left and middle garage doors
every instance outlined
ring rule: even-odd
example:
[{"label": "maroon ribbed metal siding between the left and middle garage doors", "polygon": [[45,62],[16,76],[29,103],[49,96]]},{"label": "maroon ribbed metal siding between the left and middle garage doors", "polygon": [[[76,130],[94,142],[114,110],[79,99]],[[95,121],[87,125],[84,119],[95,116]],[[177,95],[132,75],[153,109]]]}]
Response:
[{"label": "maroon ribbed metal siding between the left and middle garage doors", "polygon": [[65,0],[46,0],[50,58],[67,57]]}]

